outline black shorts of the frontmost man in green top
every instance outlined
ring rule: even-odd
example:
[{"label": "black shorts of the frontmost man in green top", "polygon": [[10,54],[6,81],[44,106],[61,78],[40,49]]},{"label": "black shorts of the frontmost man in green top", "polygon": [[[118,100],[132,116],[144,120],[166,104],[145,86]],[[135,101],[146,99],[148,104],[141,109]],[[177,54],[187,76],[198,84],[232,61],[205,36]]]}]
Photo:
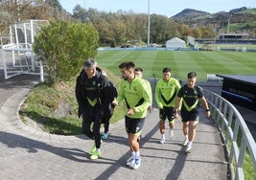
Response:
[{"label": "black shorts of the frontmost man in green top", "polygon": [[125,116],[126,120],[126,130],[129,134],[140,135],[142,127],[145,122],[145,118],[129,118]]}]

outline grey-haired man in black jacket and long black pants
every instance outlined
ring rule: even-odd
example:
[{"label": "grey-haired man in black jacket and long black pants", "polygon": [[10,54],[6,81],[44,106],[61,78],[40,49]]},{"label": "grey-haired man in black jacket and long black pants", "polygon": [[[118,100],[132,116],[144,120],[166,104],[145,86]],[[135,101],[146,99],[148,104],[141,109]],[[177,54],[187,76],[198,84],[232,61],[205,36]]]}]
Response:
[{"label": "grey-haired man in black jacket and long black pants", "polygon": [[82,116],[82,132],[95,141],[95,145],[91,148],[92,160],[101,156],[100,128],[102,116],[109,104],[108,86],[110,86],[109,80],[102,75],[97,62],[91,58],[86,59],[83,62],[83,71],[77,78],[76,98],[79,103],[79,117]]}]

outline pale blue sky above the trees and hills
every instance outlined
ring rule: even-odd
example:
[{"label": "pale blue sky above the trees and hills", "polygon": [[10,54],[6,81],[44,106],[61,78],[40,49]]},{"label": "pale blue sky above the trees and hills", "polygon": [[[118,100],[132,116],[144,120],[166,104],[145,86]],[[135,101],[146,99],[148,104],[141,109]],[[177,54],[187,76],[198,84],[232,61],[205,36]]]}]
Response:
[{"label": "pale blue sky above the trees and hills", "polygon": [[92,8],[106,12],[122,10],[148,13],[148,2],[150,2],[150,13],[167,17],[172,17],[184,9],[216,13],[242,7],[256,8],[256,0],[58,0],[58,2],[70,13],[76,5],[81,5],[86,10]]}]

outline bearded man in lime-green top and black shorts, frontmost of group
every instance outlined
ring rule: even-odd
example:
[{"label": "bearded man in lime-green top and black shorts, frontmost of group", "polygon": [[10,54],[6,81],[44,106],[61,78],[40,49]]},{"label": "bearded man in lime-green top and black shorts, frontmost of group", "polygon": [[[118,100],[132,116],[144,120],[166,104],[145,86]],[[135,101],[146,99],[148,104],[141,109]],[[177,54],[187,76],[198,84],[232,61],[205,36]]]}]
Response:
[{"label": "bearded man in lime-green top and black shorts, frontmost of group", "polygon": [[119,65],[123,79],[120,83],[117,101],[119,103],[125,101],[127,106],[125,124],[131,151],[127,165],[132,169],[138,169],[141,165],[141,157],[137,140],[144,125],[148,107],[151,105],[151,97],[149,90],[145,88],[147,86],[145,81],[134,75],[134,67],[131,61]]}]

